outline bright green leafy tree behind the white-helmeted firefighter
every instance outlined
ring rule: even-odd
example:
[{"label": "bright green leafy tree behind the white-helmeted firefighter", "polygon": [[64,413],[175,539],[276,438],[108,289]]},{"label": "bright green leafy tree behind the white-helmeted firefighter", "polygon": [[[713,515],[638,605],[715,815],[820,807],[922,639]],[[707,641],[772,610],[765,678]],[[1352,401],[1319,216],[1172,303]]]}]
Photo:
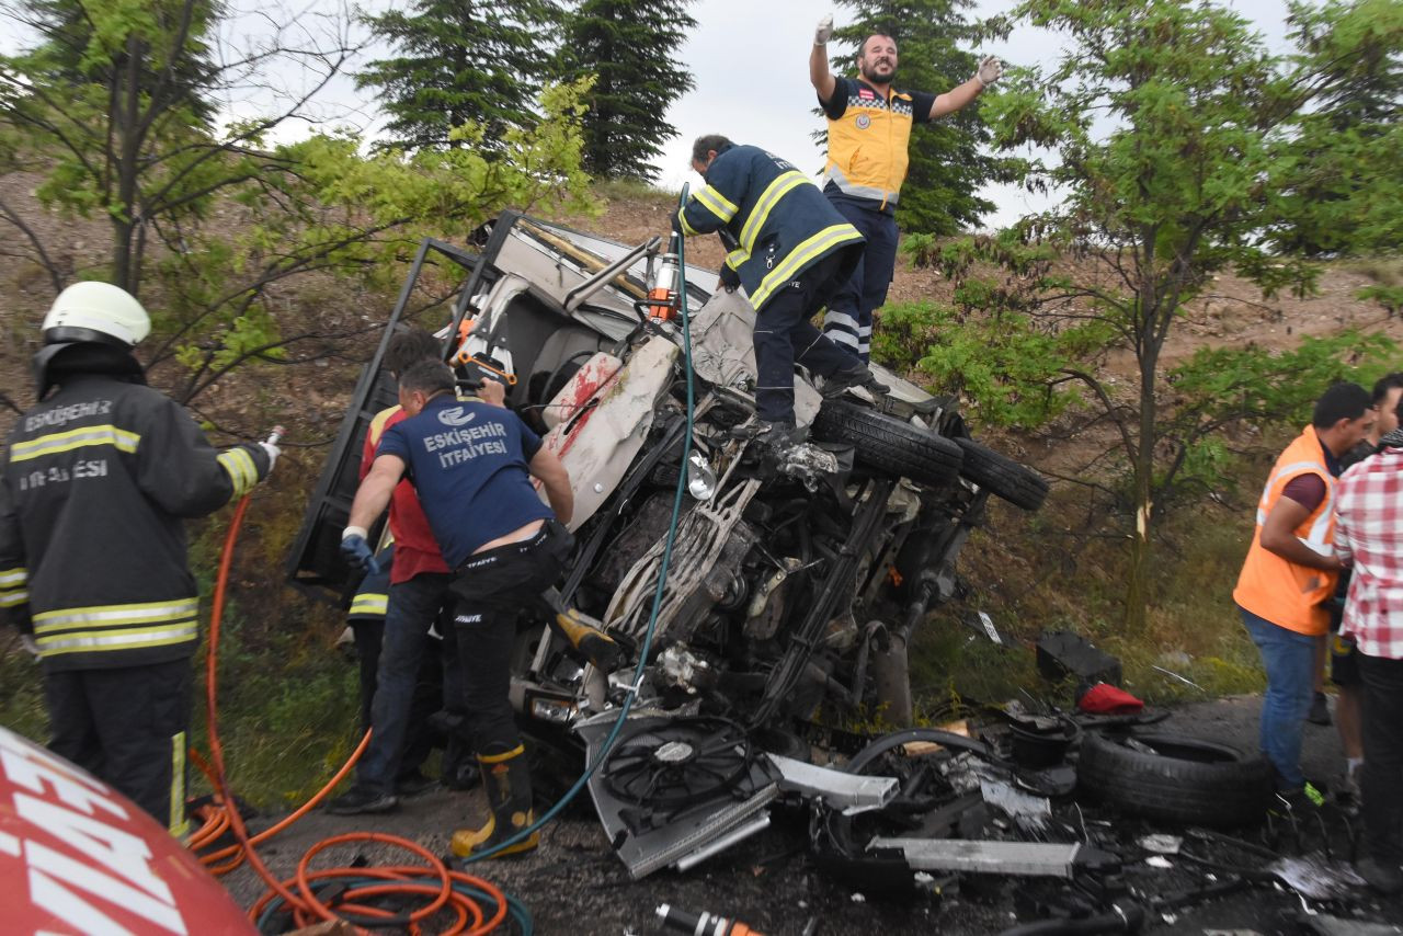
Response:
[{"label": "bright green leafy tree behind the white-helmeted firefighter", "polygon": [[[0,220],[55,290],[81,274],[159,299],[147,302],[154,333],[143,352],[147,363],[184,365],[182,401],[247,361],[363,328],[335,324],[335,310],[285,321],[279,289],[290,279],[320,272],[384,286],[427,233],[466,236],[506,205],[584,195],[588,83],[547,88],[542,126],[494,136],[492,159],[488,131],[471,122],[453,131],[462,146],[445,150],[363,157],[349,133],[271,146],[275,128],[320,121],[314,98],[355,49],[348,18],[269,13],[281,25],[240,52],[212,41],[220,21],[205,0],[86,0],[77,27],[60,17],[72,8],[25,7],[39,41],[0,56],[0,160],[42,174],[42,208],[104,218],[108,262],[66,268],[27,212],[0,203]],[[223,126],[209,116],[210,101],[297,67],[309,86],[281,107],[272,100],[268,115]]]}]

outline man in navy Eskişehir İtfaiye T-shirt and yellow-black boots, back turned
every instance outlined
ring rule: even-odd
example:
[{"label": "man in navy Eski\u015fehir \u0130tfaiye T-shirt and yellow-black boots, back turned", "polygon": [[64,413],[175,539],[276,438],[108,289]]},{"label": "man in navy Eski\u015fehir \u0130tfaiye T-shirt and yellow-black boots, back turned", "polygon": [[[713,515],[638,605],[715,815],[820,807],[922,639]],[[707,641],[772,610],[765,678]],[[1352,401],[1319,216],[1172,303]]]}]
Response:
[{"label": "man in navy Eski\u015fehir \u0130tfaiye T-shirt and yellow-black boots, back turned", "polygon": [[[407,418],[380,438],[351,505],[341,550],[362,567],[372,559],[366,528],[405,476],[452,570],[453,630],[473,748],[491,815],[453,834],[459,856],[494,849],[533,821],[530,773],[508,689],[518,612],[540,601],[570,553],[574,494],[560,459],[502,407],[455,396],[452,369],[438,361],[400,375]],[[550,507],[532,477],[542,481]],[[499,855],[535,849],[539,835]]]}]

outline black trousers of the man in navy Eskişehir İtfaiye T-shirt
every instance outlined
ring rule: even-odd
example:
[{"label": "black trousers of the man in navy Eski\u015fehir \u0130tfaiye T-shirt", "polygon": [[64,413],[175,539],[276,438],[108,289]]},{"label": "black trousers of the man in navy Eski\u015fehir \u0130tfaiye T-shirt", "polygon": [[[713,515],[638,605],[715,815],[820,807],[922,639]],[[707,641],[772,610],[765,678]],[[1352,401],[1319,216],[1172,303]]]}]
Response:
[{"label": "black trousers of the man in navy Eski\u015fehir \u0130tfaiye T-shirt", "polygon": [[543,606],[540,594],[560,577],[572,537],[556,521],[535,536],[474,553],[453,580],[453,631],[463,661],[463,702],[478,756],[521,744],[512,714],[512,647],[516,616]]}]

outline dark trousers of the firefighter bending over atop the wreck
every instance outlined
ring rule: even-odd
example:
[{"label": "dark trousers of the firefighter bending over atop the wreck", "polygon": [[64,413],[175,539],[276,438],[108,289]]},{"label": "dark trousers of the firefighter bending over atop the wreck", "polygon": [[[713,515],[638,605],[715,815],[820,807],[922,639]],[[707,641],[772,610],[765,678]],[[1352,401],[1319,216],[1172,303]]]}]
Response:
[{"label": "dark trousers of the firefighter bending over atop the wreck", "polygon": [[794,422],[794,362],[821,377],[856,370],[861,359],[810,321],[843,283],[842,251],[774,290],[755,314],[755,408],[762,420]]}]

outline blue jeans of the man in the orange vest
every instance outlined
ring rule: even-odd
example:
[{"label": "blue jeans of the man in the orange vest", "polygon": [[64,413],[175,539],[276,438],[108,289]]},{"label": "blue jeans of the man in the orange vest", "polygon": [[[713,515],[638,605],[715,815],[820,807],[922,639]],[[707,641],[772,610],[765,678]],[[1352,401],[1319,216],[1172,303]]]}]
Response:
[{"label": "blue jeans of the man in the orange vest", "polygon": [[1288,630],[1244,608],[1239,610],[1267,671],[1267,693],[1261,699],[1261,752],[1277,769],[1277,787],[1299,790],[1306,783],[1301,773],[1301,734],[1315,690],[1319,637]]}]

